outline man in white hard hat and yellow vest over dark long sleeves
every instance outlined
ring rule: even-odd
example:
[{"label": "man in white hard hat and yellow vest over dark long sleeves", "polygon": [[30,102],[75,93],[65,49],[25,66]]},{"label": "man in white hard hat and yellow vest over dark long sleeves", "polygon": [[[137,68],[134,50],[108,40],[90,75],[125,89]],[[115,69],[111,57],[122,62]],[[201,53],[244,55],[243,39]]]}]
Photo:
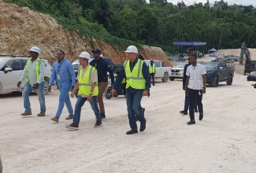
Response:
[{"label": "man in white hard hat and yellow vest over dark long sleeves", "polygon": [[113,85],[112,95],[116,94],[118,86],[126,77],[126,102],[128,119],[131,127],[126,134],[138,133],[135,114],[139,119],[139,131],[146,129],[146,119],[143,115],[140,101],[143,96],[147,96],[150,90],[150,73],[147,64],[137,57],[138,49],[135,46],[128,46],[125,51],[128,60],[124,62],[124,70],[119,72],[117,80]]}]

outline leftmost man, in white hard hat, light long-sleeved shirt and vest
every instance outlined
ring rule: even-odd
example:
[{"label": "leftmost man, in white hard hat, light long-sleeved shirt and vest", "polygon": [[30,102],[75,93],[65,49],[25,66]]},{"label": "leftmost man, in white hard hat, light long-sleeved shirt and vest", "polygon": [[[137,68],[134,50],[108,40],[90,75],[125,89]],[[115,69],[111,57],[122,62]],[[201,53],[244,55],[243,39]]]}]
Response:
[{"label": "leftmost man, in white hard hat, light long-sleeved shirt and vest", "polygon": [[25,111],[21,113],[21,116],[30,116],[32,115],[32,109],[29,101],[29,95],[32,92],[32,89],[35,90],[37,96],[39,97],[40,103],[40,112],[37,116],[45,116],[46,104],[43,94],[44,89],[44,69],[45,63],[39,57],[40,49],[39,47],[33,46],[30,50],[30,59],[27,61],[23,74],[20,77],[20,81],[17,83],[17,87],[20,87],[21,82],[24,79],[27,79],[27,83],[24,85],[24,90],[22,96],[24,99],[24,109]]}]

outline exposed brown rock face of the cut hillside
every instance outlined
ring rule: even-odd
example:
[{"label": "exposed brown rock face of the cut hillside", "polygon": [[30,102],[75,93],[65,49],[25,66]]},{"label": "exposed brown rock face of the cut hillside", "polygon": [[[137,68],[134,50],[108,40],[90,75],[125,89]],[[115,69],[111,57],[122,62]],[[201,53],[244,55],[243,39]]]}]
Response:
[{"label": "exposed brown rock face of the cut hillside", "polygon": [[[37,13],[28,8],[0,1],[0,54],[28,55],[32,46],[41,50],[40,57],[55,61],[54,55],[58,50],[66,53],[66,58],[73,61],[83,52],[92,50],[90,40],[81,38],[76,31],[72,35],[62,28],[49,15]],[[100,40],[101,42],[104,42]],[[124,50],[114,49],[107,42],[94,46],[102,50],[105,57],[111,57],[115,63],[123,63],[126,59]],[[163,60],[165,66],[171,65],[161,48],[143,46],[139,53],[145,59]]]}]

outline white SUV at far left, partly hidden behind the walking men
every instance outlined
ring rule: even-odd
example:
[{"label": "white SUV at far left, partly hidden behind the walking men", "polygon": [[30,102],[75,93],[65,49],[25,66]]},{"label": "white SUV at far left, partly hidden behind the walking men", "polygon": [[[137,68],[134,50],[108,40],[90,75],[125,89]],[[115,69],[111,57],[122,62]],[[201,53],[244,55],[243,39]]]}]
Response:
[{"label": "white SUV at far left, partly hidden behind the walking men", "polygon": [[[20,80],[20,76],[22,75],[28,59],[29,57],[0,56],[0,94],[24,90],[26,79],[22,81],[20,87],[17,87],[17,83]],[[44,94],[47,94],[52,67],[47,60],[43,61],[45,61],[46,64],[44,73],[44,80],[46,81]]]}]

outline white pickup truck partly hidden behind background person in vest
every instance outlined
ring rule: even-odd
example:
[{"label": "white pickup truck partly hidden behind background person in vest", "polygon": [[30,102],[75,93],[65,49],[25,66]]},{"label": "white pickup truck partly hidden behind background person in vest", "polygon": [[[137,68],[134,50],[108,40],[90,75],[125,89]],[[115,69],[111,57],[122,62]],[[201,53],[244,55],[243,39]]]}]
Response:
[{"label": "white pickup truck partly hidden behind background person in vest", "polygon": [[[145,60],[145,63],[150,64],[150,60]],[[154,79],[161,79],[163,83],[166,83],[169,79],[169,74],[172,73],[171,67],[164,67],[164,61],[154,61],[155,64],[155,75]]]}]

